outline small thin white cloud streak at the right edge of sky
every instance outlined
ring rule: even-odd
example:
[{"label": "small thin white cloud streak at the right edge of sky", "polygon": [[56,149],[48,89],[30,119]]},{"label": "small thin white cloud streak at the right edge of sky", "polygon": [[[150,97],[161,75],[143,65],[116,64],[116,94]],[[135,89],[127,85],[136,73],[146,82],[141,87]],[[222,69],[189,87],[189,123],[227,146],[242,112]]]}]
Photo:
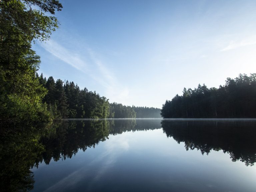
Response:
[{"label": "small thin white cloud streak at the right edge of sky", "polygon": [[228,46],[221,49],[220,51],[228,51],[232,49],[237,49],[240,47],[244,47],[247,45],[255,45],[256,44],[256,36],[251,36],[246,39],[240,40],[240,41],[231,41]]}]

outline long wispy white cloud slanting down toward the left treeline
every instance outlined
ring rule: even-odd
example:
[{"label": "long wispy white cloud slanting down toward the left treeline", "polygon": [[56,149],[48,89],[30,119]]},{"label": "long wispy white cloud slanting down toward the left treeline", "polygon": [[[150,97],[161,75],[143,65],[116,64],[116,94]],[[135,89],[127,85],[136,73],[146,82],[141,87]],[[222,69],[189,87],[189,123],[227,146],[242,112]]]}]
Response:
[{"label": "long wispy white cloud slanting down toward the left treeline", "polygon": [[[83,72],[93,81],[105,88],[104,96],[111,98],[111,102],[127,101],[129,90],[127,87],[120,85],[109,66],[104,64],[100,56],[90,48],[84,48],[83,45],[77,45],[77,50],[68,49],[54,40],[42,43],[41,46],[73,68]],[[83,49],[82,49],[83,47]],[[82,53],[78,54],[80,50]]]}]

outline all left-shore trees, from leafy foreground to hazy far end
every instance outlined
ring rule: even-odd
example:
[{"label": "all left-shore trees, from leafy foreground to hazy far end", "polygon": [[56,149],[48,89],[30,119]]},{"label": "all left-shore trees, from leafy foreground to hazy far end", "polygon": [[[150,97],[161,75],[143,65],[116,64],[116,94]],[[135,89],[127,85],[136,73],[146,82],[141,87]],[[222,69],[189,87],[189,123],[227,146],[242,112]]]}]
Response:
[{"label": "all left-shore trees, from leafy foreground to hazy far end", "polygon": [[59,25],[51,15],[61,9],[58,0],[0,1],[0,120],[29,124],[56,118],[135,118],[136,112],[138,118],[160,117],[160,109],[110,104],[74,82],[37,74],[41,61],[31,44],[50,38]]}]

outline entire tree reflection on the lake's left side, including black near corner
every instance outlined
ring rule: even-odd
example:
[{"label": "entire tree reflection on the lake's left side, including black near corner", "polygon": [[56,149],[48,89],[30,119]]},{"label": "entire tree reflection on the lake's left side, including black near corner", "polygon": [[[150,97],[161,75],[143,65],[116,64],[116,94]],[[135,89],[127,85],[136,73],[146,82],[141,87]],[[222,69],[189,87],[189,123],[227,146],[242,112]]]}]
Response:
[{"label": "entire tree reflection on the lake's left side, including black near corner", "polygon": [[160,120],[84,120],[62,121],[42,128],[0,127],[0,189],[28,191],[33,189],[33,166],[49,164],[53,159],[71,158],[105,141],[109,134],[161,128]]}]

